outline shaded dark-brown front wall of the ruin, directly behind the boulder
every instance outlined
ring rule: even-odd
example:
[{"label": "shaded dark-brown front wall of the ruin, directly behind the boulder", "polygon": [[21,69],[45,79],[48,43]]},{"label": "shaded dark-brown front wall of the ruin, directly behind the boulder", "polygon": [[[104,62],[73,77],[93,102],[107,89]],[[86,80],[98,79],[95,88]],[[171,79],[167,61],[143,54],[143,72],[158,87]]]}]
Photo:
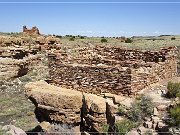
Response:
[{"label": "shaded dark-brown front wall of the ruin, directly behind the boulder", "polygon": [[[131,71],[112,66],[89,66],[64,64],[55,60],[50,63],[53,83],[80,91],[100,94],[114,94],[130,91]],[[54,78],[54,79],[53,79]]]}]

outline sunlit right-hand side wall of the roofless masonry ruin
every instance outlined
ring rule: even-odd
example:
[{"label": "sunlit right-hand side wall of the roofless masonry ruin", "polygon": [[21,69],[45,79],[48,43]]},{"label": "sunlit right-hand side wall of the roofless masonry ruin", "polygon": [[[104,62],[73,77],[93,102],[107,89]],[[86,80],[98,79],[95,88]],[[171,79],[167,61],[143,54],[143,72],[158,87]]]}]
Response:
[{"label": "sunlit right-hand side wall of the roofless masonry ruin", "polygon": [[164,62],[150,62],[132,69],[131,89],[133,93],[161,80],[169,79],[177,75],[177,58],[174,55],[166,55]]}]

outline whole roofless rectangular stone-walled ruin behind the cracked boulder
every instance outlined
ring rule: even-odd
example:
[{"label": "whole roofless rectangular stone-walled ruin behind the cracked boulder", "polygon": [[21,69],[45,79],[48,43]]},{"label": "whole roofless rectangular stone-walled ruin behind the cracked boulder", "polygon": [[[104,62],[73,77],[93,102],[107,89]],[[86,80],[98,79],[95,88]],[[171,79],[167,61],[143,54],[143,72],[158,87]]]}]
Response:
[{"label": "whole roofless rectangular stone-walled ruin behind the cracked boulder", "polygon": [[76,56],[49,53],[51,84],[101,94],[136,95],[177,75],[176,47],[141,51],[121,47],[83,48]]}]

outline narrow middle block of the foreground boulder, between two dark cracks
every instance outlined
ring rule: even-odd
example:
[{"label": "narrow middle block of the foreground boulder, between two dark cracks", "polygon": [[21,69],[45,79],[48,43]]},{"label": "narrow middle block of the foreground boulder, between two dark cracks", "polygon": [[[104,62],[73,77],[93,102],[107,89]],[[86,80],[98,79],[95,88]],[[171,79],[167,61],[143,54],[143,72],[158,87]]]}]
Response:
[{"label": "narrow middle block of the foreground boulder, between two dark cracks", "polygon": [[102,127],[107,123],[106,100],[94,94],[84,93],[83,117],[90,130],[102,132]]}]

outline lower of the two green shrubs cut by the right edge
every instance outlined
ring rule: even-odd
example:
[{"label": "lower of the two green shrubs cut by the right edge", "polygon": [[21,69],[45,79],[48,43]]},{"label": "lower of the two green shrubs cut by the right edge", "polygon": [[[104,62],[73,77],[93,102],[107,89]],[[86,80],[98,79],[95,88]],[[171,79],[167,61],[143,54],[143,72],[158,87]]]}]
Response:
[{"label": "lower of the two green shrubs cut by the right edge", "polygon": [[180,104],[170,109],[170,125],[180,126]]}]

